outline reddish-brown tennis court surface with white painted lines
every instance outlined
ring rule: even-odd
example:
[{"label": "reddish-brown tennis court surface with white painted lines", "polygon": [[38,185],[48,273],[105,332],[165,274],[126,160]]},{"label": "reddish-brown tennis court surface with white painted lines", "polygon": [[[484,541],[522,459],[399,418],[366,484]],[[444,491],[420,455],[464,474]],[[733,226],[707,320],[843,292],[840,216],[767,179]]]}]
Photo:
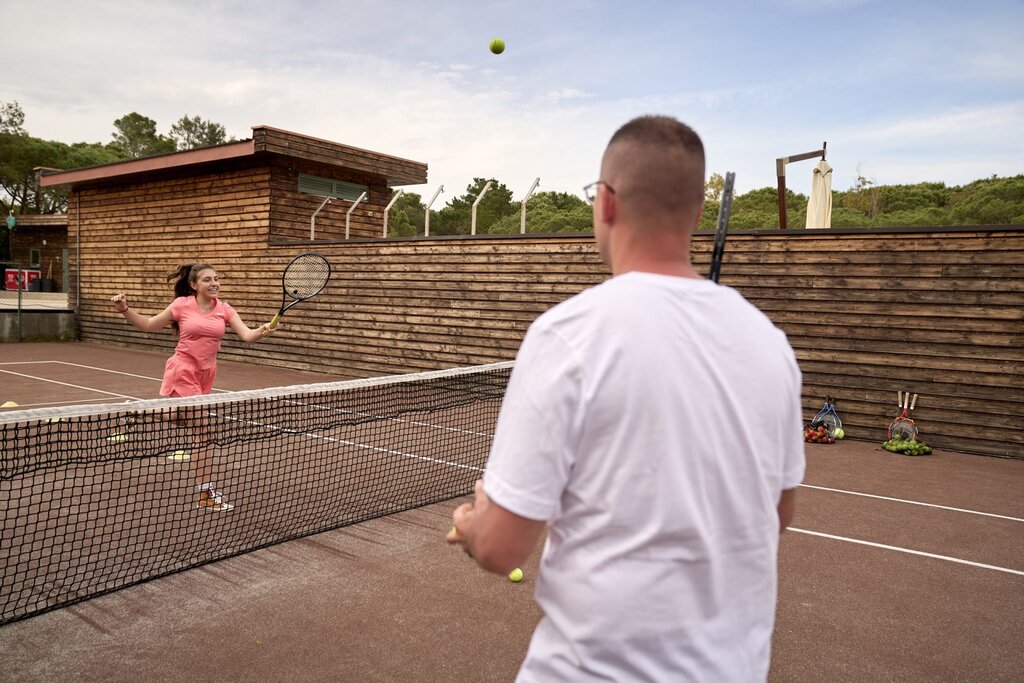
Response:
[{"label": "reddish-brown tennis court surface with white painted lines", "polygon": [[[155,397],[166,357],[87,344],[3,348],[0,402],[23,408]],[[219,389],[339,379],[219,367]],[[850,439],[809,445],[780,550],[771,680],[1017,680],[1022,490],[1022,461],[906,458]],[[540,618],[539,553],[518,585],[477,570],[442,540],[463,500],[6,624],[5,677],[512,680]],[[259,501],[271,514],[273,497]]]}]

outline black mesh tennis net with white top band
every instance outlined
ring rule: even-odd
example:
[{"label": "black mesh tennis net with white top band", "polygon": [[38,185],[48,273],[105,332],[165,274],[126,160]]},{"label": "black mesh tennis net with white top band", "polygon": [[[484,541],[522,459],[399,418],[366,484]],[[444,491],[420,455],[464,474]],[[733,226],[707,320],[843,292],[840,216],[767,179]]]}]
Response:
[{"label": "black mesh tennis net with white top band", "polygon": [[0,413],[0,624],[470,494],[511,369]]}]

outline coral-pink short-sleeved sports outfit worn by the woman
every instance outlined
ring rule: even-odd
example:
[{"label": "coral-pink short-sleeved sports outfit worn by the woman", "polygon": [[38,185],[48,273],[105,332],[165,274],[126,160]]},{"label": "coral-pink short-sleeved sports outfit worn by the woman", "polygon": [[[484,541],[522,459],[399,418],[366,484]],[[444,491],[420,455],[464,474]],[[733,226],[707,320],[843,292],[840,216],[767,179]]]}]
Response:
[{"label": "coral-pink short-sleeved sports outfit worn by the woman", "polygon": [[195,396],[210,393],[217,376],[217,351],[234,316],[234,309],[220,299],[213,300],[213,310],[200,310],[194,296],[171,302],[171,314],[178,323],[178,345],[164,367],[162,396]]}]

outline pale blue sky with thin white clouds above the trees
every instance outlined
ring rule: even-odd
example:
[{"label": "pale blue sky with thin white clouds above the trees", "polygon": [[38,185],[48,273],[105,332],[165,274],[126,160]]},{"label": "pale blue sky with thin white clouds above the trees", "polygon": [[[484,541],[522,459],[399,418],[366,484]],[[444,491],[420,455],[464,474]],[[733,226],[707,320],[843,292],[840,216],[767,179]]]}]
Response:
[{"label": "pale blue sky with thin white clouds above the trees", "polygon": [[407,190],[443,185],[435,208],[475,177],[582,196],[645,114],[692,126],[737,194],[823,141],[834,189],[958,185],[1024,173],[1022,33],[1022,0],[0,0],[0,101],[69,143],[138,112],[425,162]]}]

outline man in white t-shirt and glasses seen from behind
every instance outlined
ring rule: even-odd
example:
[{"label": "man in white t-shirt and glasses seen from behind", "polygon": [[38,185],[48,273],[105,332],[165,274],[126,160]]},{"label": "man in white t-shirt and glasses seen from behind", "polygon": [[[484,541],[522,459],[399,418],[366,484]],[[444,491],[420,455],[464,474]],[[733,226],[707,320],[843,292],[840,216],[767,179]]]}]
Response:
[{"label": "man in white t-shirt and glasses seen from behind", "polygon": [[703,177],[674,119],[612,136],[587,193],[613,276],[530,326],[453,515],[447,541],[496,572],[547,525],[520,681],[767,678],[801,374],[785,335],[690,263]]}]

